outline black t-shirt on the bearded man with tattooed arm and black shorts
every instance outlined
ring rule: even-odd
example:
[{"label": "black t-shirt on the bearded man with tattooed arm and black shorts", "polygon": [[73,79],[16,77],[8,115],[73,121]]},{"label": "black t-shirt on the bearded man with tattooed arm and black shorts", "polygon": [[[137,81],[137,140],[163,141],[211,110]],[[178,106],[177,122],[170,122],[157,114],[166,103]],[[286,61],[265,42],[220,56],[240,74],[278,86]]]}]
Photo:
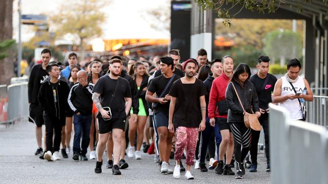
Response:
[{"label": "black t-shirt on the bearded man with tattooed arm and black shorts", "polygon": [[[112,97],[117,82],[119,83],[115,95]],[[131,98],[131,89],[128,80],[122,77],[119,77],[119,79],[112,79],[109,75],[104,75],[100,77],[94,85],[93,93],[101,94],[99,98],[100,104],[102,107],[109,106],[111,108],[112,118],[126,118],[124,98]],[[113,100],[111,102],[112,98]]]}]

